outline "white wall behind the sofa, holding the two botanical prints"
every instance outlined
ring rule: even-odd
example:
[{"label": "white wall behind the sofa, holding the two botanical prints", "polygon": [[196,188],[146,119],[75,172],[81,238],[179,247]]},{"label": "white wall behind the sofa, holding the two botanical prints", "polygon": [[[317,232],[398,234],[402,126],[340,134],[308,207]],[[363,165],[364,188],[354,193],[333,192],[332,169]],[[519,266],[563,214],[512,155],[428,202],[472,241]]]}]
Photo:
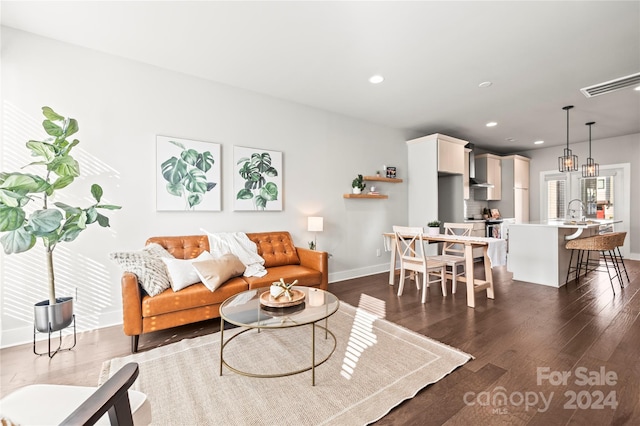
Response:
[{"label": "white wall behind the sofa, holding the two botanical prints", "polygon": [[[344,199],[358,174],[383,164],[406,179],[403,133],[333,113],[2,28],[2,157],[0,170],[31,161],[24,143],[44,138],[40,108],[80,124],[74,148],[82,179],[60,200],[89,203],[91,183],[105,190],[111,228],[90,228],[55,251],[58,295],[77,289],[78,327],[120,323],[120,270],[108,260],[154,235],[210,231],[291,232],[297,245],[313,236],[307,216],[323,216],[320,250],[330,252],[330,281],[384,271],[382,232],[407,221],[407,186],[385,184],[388,200]],[[286,78],[286,76],[283,76]],[[222,144],[222,211],[155,211],[155,138],[167,135]],[[283,152],[284,210],[234,212],[233,146]],[[35,172],[35,170],[33,170]],[[376,249],[382,256],[376,256]],[[32,338],[32,305],[46,299],[44,256],[2,254],[0,346]]]}]

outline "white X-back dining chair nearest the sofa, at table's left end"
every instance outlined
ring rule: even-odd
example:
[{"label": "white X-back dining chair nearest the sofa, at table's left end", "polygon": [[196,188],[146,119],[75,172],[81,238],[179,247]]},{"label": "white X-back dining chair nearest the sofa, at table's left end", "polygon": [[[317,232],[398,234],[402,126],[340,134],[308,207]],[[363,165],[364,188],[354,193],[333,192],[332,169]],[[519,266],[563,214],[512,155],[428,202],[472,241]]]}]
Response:
[{"label": "white X-back dining chair nearest the sofa, at table's left end", "polygon": [[[394,226],[393,232],[396,239],[396,250],[400,258],[400,282],[398,284],[398,296],[402,296],[404,290],[405,271],[415,272],[416,287],[420,289],[418,274],[422,273],[422,303],[427,301],[427,288],[429,284],[440,281],[442,294],[447,295],[445,264],[439,260],[427,258],[424,252],[424,230],[420,227]],[[431,280],[430,277],[439,278]]]}]

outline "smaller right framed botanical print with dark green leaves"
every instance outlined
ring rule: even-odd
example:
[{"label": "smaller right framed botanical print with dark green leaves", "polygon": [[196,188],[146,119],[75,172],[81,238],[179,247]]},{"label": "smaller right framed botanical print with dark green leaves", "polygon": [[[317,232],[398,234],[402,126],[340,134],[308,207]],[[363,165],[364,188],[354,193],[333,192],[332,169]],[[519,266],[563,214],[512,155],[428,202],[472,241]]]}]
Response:
[{"label": "smaller right framed botanical print with dark green leaves", "polygon": [[233,147],[233,209],[282,211],[282,152]]}]

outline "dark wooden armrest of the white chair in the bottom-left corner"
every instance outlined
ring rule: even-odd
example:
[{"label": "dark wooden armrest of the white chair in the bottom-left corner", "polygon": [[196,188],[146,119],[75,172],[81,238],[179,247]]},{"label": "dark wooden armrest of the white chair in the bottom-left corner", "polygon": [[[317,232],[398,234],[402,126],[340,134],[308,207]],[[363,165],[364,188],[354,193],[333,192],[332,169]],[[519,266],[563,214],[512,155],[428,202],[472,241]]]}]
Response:
[{"label": "dark wooden armrest of the white chair in the bottom-left corner", "polygon": [[133,426],[128,390],[138,377],[138,372],[137,363],[126,364],[60,425],[93,425],[108,412],[112,425]]}]

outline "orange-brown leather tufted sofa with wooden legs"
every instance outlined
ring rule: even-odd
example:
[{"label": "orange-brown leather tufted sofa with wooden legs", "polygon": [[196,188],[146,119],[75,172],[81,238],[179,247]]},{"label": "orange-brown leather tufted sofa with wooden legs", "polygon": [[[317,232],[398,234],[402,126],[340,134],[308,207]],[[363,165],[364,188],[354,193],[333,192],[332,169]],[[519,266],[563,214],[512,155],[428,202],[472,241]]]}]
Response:
[{"label": "orange-brown leather tufted sofa with wooden legs", "polygon": [[[131,336],[131,352],[138,351],[141,334],[164,330],[220,316],[220,304],[245,290],[268,287],[284,278],[298,280],[297,285],[328,288],[328,256],[326,252],[295,247],[288,232],[247,233],[265,260],[264,277],[235,277],[211,292],[198,283],[174,292],[171,288],[150,297],[135,274],[122,274],[122,315],[124,333]],[[152,237],[147,244],[158,243],[178,259],[192,259],[209,250],[206,235]]]}]

